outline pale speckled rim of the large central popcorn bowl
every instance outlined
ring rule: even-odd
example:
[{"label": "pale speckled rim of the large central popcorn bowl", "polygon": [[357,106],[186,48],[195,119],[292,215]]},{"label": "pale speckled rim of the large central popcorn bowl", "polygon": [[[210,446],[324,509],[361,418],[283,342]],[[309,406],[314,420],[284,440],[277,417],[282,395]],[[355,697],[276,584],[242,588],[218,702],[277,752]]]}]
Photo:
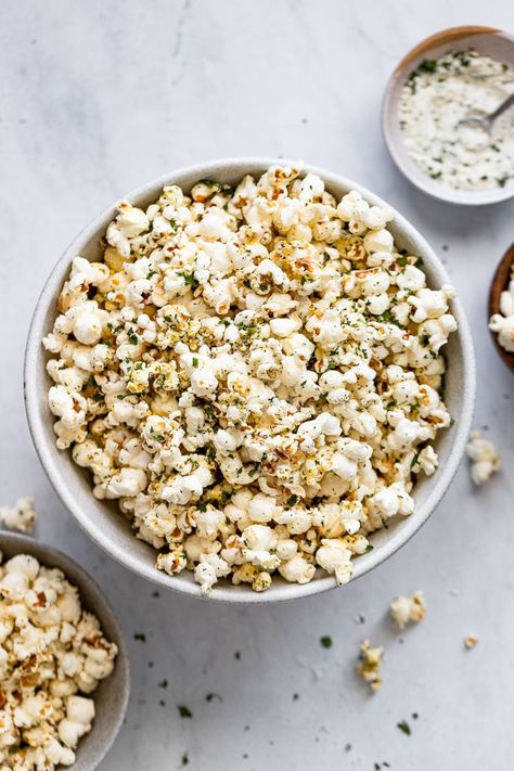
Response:
[{"label": "pale speckled rim of the large central popcorn bowl", "polygon": [[[185,175],[197,177],[197,179],[213,178],[216,176],[216,172],[220,172],[222,169],[230,167],[231,169],[239,171],[241,177],[243,177],[248,172],[248,167],[259,167],[265,170],[273,165],[291,165],[294,163],[298,162],[291,160],[290,158],[261,156],[219,158],[206,163],[198,163],[182,167],[180,169],[174,169],[165,175],[162,175],[150,182],[136,188],[130,193],[125,195],[124,200],[131,202],[133,200],[144,198],[144,196],[152,190],[158,187],[163,188],[166,184],[172,184],[176,178],[180,178]],[[312,166],[310,164],[303,164],[303,172],[319,175],[324,180],[329,189],[331,185],[340,185],[348,190],[358,191],[367,201],[374,205],[390,206],[367,188],[354,182],[347,177],[333,174],[326,169]],[[157,570],[153,566],[150,567],[145,564],[141,564],[138,557],[133,557],[131,560],[130,553],[126,552],[118,543],[105,543],[105,539],[102,537],[102,528],[97,525],[91,517],[87,514],[85,515],[80,507],[76,505],[70,486],[61,480],[60,475],[56,472],[56,464],[54,464],[50,453],[47,450],[43,420],[39,413],[37,403],[38,378],[36,377],[37,355],[41,346],[41,338],[44,334],[47,334],[43,327],[44,314],[50,301],[52,301],[55,295],[57,287],[62,286],[63,270],[70,265],[74,256],[80,254],[80,246],[91,239],[92,235],[95,234],[101,228],[106,227],[106,223],[113,217],[113,206],[104,209],[98,217],[89,222],[89,224],[87,224],[67,246],[64,254],[51,271],[37,301],[28,333],[24,364],[24,393],[28,426],[36,451],[39,455],[39,460],[52,486],[56,490],[65,506],[75,516],[79,525],[99,547],[101,547],[107,554],[117,560],[132,573],[136,573],[153,581],[154,583],[159,584],[160,587],[174,589],[183,594],[189,594],[190,596],[204,597],[204,595],[201,594],[198,584],[177,580],[180,579],[180,574],[179,576],[170,577],[167,574]],[[445,267],[435,254],[434,249],[425,241],[424,236],[401,214],[399,214],[396,209],[394,209],[394,211],[395,226],[401,228],[402,233],[416,243],[417,248],[423,252],[424,257],[426,256],[429,258],[432,269],[438,272],[441,283],[450,283]],[[470,326],[459,298],[452,300],[452,312],[459,325],[458,332],[454,334],[460,336],[462,343],[464,382],[460,420],[455,426],[451,428],[451,431],[454,432],[454,436],[448,461],[444,468],[437,470],[434,488],[424,504],[417,506],[414,513],[404,519],[401,527],[397,529],[397,531],[387,540],[385,544],[375,548],[369,554],[362,555],[356,560],[354,563],[352,580],[365,575],[374,567],[377,567],[380,564],[388,560],[421,528],[446,493],[464,453],[467,436],[471,429],[475,401],[475,355]],[[51,420],[50,413],[49,420]],[[336,582],[334,576],[323,576],[304,584],[284,583],[280,586],[272,586],[269,590],[262,593],[254,592],[249,588],[245,592],[231,592],[230,590],[215,587],[208,595],[208,600],[241,604],[273,603],[297,597],[306,597],[334,589],[335,587]]]}]

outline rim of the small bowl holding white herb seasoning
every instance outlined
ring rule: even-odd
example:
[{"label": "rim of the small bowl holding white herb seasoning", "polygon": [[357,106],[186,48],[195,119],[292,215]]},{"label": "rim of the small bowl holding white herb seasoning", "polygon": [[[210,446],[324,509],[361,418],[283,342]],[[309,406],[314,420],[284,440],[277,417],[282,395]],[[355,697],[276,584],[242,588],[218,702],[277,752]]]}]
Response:
[{"label": "rim of the small bowl holding white herb seasoning", "polygon": [[[455,33],[459,30],[466,29],[465,26],[448,27],[447,29],[441,29],[439,33],[433,33],[428,35],[423,40],[420,40],[415,46],[413,46],[401,59],[401,61],[396,65],[395,69],[390,74],[387,86],[382,98],[382,110],[381,110],[381,128],[384,143],[393,158],[396,167],[401,171],[401,174],[419,190],[429,195],[436,201],[444,201],[445,203],[452,204],[453,206],[492,206],[493,204],[499,204],[503,201],[509,201],[514,196],[514,181],[505,188],[486,188],[484,190],[457,190],[450,185],[442,184],[440,182],[431,180],[431,178],[419,168],[414,162],[410,162],[399,150],[399,143],[394,137],[393,131],[393,120],[397,119],[395,111],[393,111],[393,98],[395,94],[395,88],[398,80],[404,81],[409,73],[413,72],[423,59],[429,54],[429,51],[447,47],[448,43],[444,43],[442,40],[436,42],[434,41],[434,47],[427,48],[423,53],[417,54],[409,64],[403,65],[403,60],[407,59],[415,49],[423,46],[425,42],[431,41],[432,38],[438,38],[439,35],[446,33]],[[509,33],[502,29],[496,29],[491,27],[476,27],[475,31],[470,33],[463,40],[467,38],[474,38],[479,36],[496,36],[501,37],[504,40],[512,41],[514,44],[514,38],[509,35]]]}]

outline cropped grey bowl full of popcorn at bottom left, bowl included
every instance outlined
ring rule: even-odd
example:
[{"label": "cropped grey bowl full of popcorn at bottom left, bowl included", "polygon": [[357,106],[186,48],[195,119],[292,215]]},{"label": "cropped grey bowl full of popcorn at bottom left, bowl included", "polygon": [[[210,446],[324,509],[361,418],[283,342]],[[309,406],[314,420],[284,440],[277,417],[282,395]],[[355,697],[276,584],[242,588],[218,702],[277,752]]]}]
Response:
[{"label": "cropped grey bowl full of popcorn at bottom left, bowl included", "polygon": [[0,766],[97,768],[127,709],[120,628],[69,557],[0,534]]}]

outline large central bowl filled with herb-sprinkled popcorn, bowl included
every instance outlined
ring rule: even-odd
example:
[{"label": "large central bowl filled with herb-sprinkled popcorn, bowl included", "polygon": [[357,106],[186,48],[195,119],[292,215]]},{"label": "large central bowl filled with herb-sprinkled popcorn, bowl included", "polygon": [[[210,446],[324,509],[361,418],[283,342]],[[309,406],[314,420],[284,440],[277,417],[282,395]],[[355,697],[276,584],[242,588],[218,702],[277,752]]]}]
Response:
[{"label": "large central bowl filled with herb-sprinkled popcorn, bowl included", "polygon": [[66,249],[30,327],[41,462],[89,536],[187,594],[346,583],[420,528],[464,451],[467,322],[374,194],[273,158],[166,175]]}]

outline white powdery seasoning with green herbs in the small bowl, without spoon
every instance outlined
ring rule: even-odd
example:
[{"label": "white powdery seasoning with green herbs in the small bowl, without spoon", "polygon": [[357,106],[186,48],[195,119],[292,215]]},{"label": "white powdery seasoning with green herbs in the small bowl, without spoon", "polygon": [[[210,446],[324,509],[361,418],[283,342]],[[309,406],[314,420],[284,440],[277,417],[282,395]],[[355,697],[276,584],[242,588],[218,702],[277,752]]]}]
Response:
[{"label": "white powdery seasoning with green herbs in the small bowl, without spoon", "polygon": [[514,108],[498,118],[490,136],[459,121],[471,112],[491,113],[513,92],[513,67],[476,51],[426,59],[400,95],[409,155],[432,179],[458,190],[503,188],[514,177]]}]

